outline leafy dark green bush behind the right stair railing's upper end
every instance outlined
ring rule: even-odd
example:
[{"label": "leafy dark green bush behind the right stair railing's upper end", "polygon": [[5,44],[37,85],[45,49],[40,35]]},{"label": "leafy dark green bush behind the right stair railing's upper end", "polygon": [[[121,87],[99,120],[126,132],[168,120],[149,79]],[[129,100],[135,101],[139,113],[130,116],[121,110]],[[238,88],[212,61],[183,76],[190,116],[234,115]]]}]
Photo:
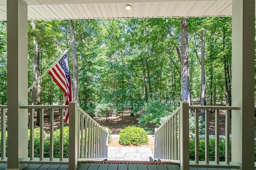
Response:
[{"label": "leafy dark green bush behind the right stair railing's upper end", "polygon": [[147,130],[148,133],[154,133],[154,128],[159,127],[164,119],[170,116],[176,108],[176,105],[168,105],[160,101],[149,101],[142,107],[143,113],[138,118],[138,125]]}]

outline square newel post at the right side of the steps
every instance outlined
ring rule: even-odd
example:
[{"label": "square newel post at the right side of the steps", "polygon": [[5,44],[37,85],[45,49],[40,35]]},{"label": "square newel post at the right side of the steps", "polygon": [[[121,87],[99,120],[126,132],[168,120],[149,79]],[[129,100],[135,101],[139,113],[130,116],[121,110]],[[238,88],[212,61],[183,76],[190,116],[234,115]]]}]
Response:
[{"label": "square newel post at the right side of the steps", "polygon": [[180,169],[189,169],[189,134],[188,102],[180,102],[179,135],[180,135]]}]

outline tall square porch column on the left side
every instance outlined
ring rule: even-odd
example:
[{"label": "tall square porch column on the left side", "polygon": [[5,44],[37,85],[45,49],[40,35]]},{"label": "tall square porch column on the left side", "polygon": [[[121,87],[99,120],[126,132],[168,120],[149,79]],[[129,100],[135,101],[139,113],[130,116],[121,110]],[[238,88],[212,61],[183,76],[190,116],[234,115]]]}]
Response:
[{"label": "tall square porch column on the left side", "polygon": [[7,104],[8,170],[22,168],[28,157],[28,5],[23,0],[7,0]]}]

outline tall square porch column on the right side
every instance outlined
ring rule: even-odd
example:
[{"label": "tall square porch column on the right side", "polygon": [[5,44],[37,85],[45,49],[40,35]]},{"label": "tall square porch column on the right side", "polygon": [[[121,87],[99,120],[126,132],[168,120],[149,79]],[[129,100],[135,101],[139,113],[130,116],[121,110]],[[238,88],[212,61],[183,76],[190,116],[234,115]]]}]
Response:
[{"label": "tall square porch column on the right side", "polygon": [[255,0],[232,2],[232,162],[254,169]]}]

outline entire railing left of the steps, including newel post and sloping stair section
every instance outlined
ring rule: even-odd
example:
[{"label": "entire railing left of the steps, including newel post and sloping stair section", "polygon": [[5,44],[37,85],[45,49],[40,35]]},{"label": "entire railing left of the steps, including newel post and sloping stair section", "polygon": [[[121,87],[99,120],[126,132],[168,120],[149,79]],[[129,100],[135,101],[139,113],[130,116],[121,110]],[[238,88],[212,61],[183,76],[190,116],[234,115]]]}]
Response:
[{"label": "entire railing left of the steps, including newel post and sloping stair section", "polygon": [[[7,107],[5,107],[7,108]],[[1,107],[0,107],[1,109]],[[77,168],[78,161],[85,160],[102,160],[107,159],[108,150],[108,130],[101,127],[94,119],[86,114],[76,102],[70,102],[70,105],[59,105],[59,106],[46,106],[46,105],[27,105],[20,106],[20,109],[28,109],[30,113],[30,153],[28,158],[24,158],[21,164],[68,164],[70,170]],[[39,109],[40,112],[40,150],[39,158],[34,157],[34,110]],[[69,109],[69,134],[68,134],[68,158],[64,158],[64,109]],[[45,110],[50,115],[50,153],[49,157],[44,157],[44,113]],[[1,123],[5,123],[5,119],[2,119],[2,114],[5,112],[1,110]],[[59,138],[59,158],[54,158],[54,116],[59,114],[60,117],[60,138]],[[5,127],[5,126],[4,126]],[[5,128],[1,130],[4,133]],[[2,135],[3,136],[3,135]],[[5,135],[4,135],[5,136]],[[4,142],[5,138],[1,138]],[[4,144],[1,144],[4,146]],[[2,150],[1,153],[4,153]],[[56,153],[55,153],[56,154]],[[2,155],[1,155],[2,156]],[[5,154],[1,157],[5,160]]]}]

